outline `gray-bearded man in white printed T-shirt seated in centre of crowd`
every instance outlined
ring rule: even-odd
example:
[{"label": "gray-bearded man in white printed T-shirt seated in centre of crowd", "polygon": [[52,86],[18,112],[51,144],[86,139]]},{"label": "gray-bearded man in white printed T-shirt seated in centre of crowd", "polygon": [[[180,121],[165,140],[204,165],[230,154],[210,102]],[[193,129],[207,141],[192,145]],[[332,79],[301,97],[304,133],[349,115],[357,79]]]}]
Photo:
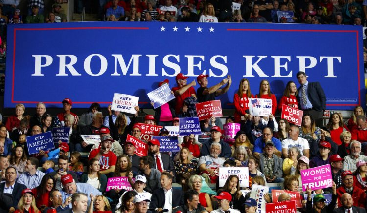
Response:
[{"label": "gray-bearded man in white printed T-shirt seated in centre of crowd", "polygon": [[208,183],[216,183],[218,179],[215,173],[218,173],[218,168],[223,166],[225,161],[224,158],[219,157],[221,150],[221,144],[213,142],[210,145],[210,155],[201,156],[199,159],[198,168]]}]

